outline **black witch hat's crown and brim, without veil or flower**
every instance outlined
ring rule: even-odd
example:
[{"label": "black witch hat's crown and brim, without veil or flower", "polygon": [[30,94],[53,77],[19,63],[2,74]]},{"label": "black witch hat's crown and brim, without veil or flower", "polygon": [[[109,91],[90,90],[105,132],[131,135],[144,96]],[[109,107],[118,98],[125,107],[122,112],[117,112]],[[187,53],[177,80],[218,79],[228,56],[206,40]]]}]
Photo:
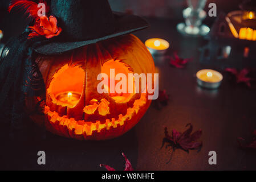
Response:
[{"label": "black witch hat's crown and brim, without veil or flower", "polygon": [[43,54],[62,53],[149,26],[139,16],[112,12],[107,0],[51,0],[50,7],[63,32],[35,49]]}]

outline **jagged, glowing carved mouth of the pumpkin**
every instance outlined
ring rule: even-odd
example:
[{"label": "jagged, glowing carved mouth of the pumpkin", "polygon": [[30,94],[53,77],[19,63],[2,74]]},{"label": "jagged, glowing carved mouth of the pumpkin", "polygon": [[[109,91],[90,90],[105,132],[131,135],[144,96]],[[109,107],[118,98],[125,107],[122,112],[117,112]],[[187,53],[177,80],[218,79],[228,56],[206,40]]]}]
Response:
[{"label": "jagged, glowing carved mouth of the pumpkin", "polygon": [[[135,100],[133,107],[127,109],[125,115],[119,114],[119,118],[115,119],[105,119],[104,121],[76,121],[74,118],[68,118],[67,115],[60,116],[56,111],[51,111],[50,107],[45,106],[44,113],[48,117],[48,121],[51,123],[51,126],[54,127],[55,131],[60,131],[59,135],[64,135],[68,138],[76,139],[89,139],[90,137],[96,137],[97,134],[100,137],[104,136],[105,139],[108,139],[107,131],[118,130],[119,133],[116,133],[116,136],[123,133],[125,127],[131,128],[129,121],[132,118],[137,118],[137,113],[140,111],[141,107],[144,107],[147,102],[147,94],[141,94],[139,100]],[[115,136],[112,136],[115,137]],[[111,137],[111,138],[112,138]]]}]

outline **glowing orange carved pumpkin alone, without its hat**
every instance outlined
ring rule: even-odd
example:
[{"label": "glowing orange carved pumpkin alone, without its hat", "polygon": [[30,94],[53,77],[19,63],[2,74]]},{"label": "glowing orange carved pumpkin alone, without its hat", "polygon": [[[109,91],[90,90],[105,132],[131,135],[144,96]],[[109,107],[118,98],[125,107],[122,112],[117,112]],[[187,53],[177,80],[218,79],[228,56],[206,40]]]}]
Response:
[{"label": "glowing orange carved pumpkin alone, without its hat", "polygon": [[[155,73],[153,59],[134,35],[125,35],[84,46],[61,55],[39,55],[36,60],[46,85],[45,125],[52,133],[79,140],[103,140],[119,137],[143,117],[151,104],[147,89],[135,92],[111,92],[111,69],[123,73]],[[108,84],[97,92],[100,73],[108,75]],[[119,81],[113,81],[116,86]],[[152,84],[153,80],[152,80]],[[113,85],[112,85],[113,86]],[[152,86],[153,88],[153,86]],[[127,90],[127,88],[121,88]],[[32,106],[31,102],[27,105]],[[28,106],[29,107],[29,106]],[[39,122],[37,115],[31,118]]]}]

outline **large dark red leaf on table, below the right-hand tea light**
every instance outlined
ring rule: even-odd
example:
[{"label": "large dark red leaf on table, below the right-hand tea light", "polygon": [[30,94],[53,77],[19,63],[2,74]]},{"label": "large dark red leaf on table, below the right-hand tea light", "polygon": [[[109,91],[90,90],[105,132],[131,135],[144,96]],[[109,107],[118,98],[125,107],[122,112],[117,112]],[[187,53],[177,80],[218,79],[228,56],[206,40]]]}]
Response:
[{"label": "large dark red leaf on table, below the right-hand tea light", "polygon": [[198,130],[191,134],[193,126],[191,125],[191,123],[186,126],[189,126],[189,128],[184,131],[184,133],[180,133],[177,130],[173,129],[172,136],[168,134],[167,127],[165,127],[165,139],[169,140],[169,142],[173,142],[174,144],[180,146],[186,151],[200,148],[202,146],[202,142],[197,142],[197,140],[201,137],[202,131]]}]

